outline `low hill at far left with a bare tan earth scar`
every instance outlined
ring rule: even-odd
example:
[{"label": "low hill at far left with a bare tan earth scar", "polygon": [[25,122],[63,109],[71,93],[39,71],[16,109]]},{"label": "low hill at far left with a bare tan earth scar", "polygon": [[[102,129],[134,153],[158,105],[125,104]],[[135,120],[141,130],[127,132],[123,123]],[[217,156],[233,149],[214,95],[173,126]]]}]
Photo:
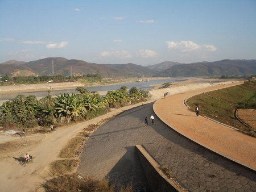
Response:
[{"label": "low hill at far left with a bare tan earth scar", "polygon": [[38,76],[36,72],[27,68],[26,66],[14,65],[14,64],[0,64],[0,76],[1,77],[16,77],[16,76]]}]

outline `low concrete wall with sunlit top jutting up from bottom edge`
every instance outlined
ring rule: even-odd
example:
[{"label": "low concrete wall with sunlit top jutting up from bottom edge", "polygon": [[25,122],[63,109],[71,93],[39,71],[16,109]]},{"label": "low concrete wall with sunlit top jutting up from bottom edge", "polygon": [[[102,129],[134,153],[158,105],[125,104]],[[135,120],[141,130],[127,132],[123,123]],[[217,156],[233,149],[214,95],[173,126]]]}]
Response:
[{"label": "low concrete wall with sunlit top jutting up from bottom edge", "polygon": [[141,145],[135,145],[135,148],[150,191],[188,191],[176,182],[174,178],[168,178],[159,168],[158,162]]}]

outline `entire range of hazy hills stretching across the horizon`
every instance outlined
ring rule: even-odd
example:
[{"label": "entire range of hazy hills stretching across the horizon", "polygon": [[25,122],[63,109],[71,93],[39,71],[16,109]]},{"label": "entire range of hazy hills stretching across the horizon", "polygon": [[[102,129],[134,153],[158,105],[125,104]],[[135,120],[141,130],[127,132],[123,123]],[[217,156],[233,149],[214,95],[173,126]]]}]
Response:
[{"label": "entire range of hazy hills stretching across the horizon", "polygon": [[[53,63],[53,68],[52,68]],[[95,64],[63,57],[48,57],[36,61],[6,61],[0,64],[0,76],[82,76],[99,73],[107,77],[199,77],[221,75],[256,74],[256,60],[221,60],[181,64],[164,61],[159,64],[141,66],[136,64]]]}]

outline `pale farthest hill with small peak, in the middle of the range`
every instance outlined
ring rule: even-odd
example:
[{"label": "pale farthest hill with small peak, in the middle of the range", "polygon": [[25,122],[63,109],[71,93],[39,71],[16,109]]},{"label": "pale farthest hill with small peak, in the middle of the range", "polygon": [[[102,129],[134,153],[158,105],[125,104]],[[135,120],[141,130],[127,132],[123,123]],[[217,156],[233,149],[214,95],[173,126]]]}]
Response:
[{"label": "pale farthest hill with small peak, in the middle of the range", "polygon": [[155,70],[149,69],[146,66],[135,65],[132,63],[129,64],[104,64],[117,69],[125,70],[127,73],[131,73],[134,76],[138,77],[152,77],[156,73]]}]

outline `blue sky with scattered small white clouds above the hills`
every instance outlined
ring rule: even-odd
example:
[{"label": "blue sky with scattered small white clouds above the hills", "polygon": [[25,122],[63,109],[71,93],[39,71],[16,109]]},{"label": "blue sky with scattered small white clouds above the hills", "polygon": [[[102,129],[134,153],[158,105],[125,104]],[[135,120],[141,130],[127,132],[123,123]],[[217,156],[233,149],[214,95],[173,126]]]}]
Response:
[{"label": "blue sky with scattered small white clouds above the hills", "polygon": [[256,0],[0,0],[0,63],[256,59]]}]

